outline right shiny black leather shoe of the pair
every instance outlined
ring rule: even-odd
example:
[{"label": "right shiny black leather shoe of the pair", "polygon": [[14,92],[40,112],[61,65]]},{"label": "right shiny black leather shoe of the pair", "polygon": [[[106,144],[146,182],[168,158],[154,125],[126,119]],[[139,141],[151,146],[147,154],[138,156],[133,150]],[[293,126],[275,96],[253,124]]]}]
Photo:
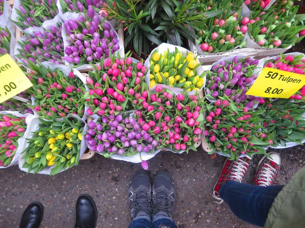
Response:
[{"label": "right shiny black leather shoe of the pair", "polygon": [[80,195],[76,202],[76,220],[74,228],[95,228],[97,210],[90,195]]}]

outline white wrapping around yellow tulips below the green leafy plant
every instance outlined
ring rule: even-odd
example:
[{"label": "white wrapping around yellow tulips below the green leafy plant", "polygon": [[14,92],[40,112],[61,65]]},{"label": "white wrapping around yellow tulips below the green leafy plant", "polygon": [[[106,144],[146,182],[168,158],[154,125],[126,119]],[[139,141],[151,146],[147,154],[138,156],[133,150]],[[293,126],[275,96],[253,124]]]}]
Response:
[{"label": "white wrapping around yellow tulips below the green leafy plant", "polygon": [[[170,52],[173,52],[173,51],[175,51],[175,48],[178,48],[178,51],[181,51],[182,55],[185,56],[185,57],[186,57],[187,53],[192,53],[191,51],[189,51],[189,50],[187,50],[187,49],[185,49],[185,48],[183,48],[183,47],[175,46],[175,45],[168,44],[168,43],[162,43],[162,44],[160,44],[158,47],[156,47],[154,50],[152,50],[152,52],[149,54],[149,56],[148,56],[147,59],[145,60],[144,66],[148,67],[148,69],[150,68],[150,58],[151,58],[151,56],[152,56],[152,53],[153,53],[155,50],[158,50],[158,53],[159,53],[159,54],[163,54],[164,51],[167,51],[167,49],[169,49]],[[193,53],[193,54],[194,54],[194,53]],[[195,54],[194,54],[194,56],[195,56]],[[199,64],[199,60],[196,59],[196,61],[197,61],[197,64]],[[200,66],[196,68],[196,71],[197,71],[198,75],[201,75],[201,74],[203,74],[203,72],[204,72],[203,68],[200,67]],[[150,77],[149,77],[149,75],[150,75],[150,71],[147,71],[145,81],[146,81],[146,83],[147,83],[148,86],[150,85]],[[203,82],[203,88],[204,88],[204,87],[205,87],[205,83],[206,83],[206,75],[203,76],[203,81],[204,81],[204,82]],[[157,85],[162,85],[162,84],[157,84]],[[154,88],[155,88],[155,87],[149,88],[149,91],[154,91]],[[175,87],[170,87],[170,86],[168,86],[168,85],[162,85],[162,88],[166,88],[166,89],[173,90],[173,88],[175,88]],[[203,88],[202,88],[202,89],[203,89]],[[175,88],[175,89],[179,89],[180,91],[184,91],[184,89],[182,89],[182,88]],[[201,89],[201,90],[202,90],[202,89]],[[201,91],[201,90],[200,90],[200,91]],[[186,91],[186,92],[187,92],[188,95],[194,95],[194,94],[195,94],[195,91],[197,91],[197,90]],[[199,91],[197,91],[197,92],[199,92]],[[179,92],[179,93],[180,93],[180,92]]]}]

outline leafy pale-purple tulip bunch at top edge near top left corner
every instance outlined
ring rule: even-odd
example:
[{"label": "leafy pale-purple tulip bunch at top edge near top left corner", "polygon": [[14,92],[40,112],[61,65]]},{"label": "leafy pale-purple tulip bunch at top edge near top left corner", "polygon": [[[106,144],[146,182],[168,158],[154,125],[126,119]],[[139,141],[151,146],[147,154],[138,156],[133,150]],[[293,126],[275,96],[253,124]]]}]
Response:
[{"label": "leafy pale-purple tulip bunch at top edge near top left corner", "polygon": [[[22,30],[41,27],[44,21],[53,19],[58,14],[57,0],[20,0],[15,8],[16,15],[12,21]],[[15,6],[15,5],[14,5]]]}]

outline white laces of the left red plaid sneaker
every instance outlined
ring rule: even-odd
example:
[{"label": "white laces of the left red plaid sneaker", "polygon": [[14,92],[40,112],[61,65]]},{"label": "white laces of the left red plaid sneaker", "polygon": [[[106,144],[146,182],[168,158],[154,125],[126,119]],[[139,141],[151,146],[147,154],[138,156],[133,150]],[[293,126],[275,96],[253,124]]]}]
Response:
[{"label": "white laces of the left red plaid sneaker", "polygon": [[[245,172],[248,168],[249,164],[246,161],[243,161],[242,159],[238,158],[237,161],[234,161],[234,165],[231,172],[231,177],[229,180],[238,180],[240,183],[242,182],[242,178],[245,175]],[[223,199],[221,199],[219,196],[216,195],[217,192],[213,192],[212,197],[214,199],[220,200],[220,202],[214,201],[217,204],[221,204],[224,202]]]}]

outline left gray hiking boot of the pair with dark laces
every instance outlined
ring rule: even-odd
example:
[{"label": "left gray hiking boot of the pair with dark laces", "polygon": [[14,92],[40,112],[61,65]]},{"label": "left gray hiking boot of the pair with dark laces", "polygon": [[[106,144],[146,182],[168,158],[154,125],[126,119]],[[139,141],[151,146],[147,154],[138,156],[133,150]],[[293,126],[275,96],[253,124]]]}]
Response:
[{"label": "left gray hiking boot of the pair with dark laces", "polygon": [[148,172],[137,171],[131,177],[128,187],[128,202],[131,208],[131,220],[138,216],[148,216],[152,214],[152,186]]}]

